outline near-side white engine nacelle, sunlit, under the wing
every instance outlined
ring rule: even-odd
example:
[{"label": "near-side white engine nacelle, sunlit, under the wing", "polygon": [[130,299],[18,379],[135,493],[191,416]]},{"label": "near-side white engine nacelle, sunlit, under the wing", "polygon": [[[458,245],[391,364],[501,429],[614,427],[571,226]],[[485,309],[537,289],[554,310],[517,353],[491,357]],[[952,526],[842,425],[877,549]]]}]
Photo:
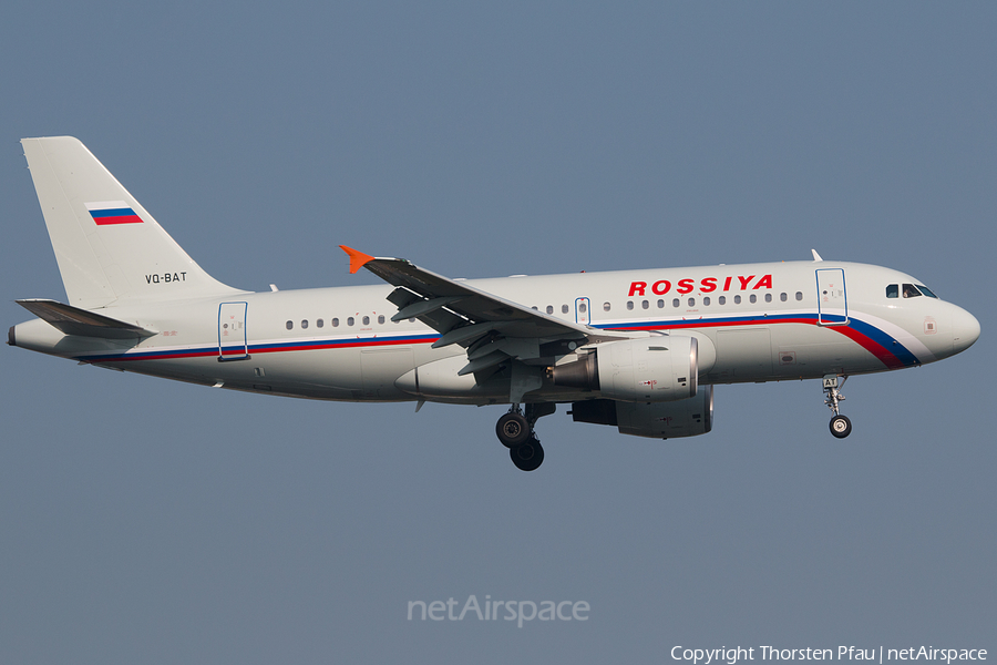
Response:
[{"label": "near-side white engine nacelle, sunlit, under the wing", "polygon": [[555,386],[598,390],[606,399],[667,402],[696,395],[699,345],[695,337],[661,335],[599,345],[576,362],[551,369]]}]

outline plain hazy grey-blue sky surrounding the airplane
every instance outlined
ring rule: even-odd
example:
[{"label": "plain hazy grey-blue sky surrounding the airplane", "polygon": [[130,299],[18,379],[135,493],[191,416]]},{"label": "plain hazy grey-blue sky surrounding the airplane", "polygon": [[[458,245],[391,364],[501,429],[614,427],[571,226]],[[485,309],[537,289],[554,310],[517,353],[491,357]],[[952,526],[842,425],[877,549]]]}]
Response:
[{"label": "plain hazy grey-blue sky surrounding the airplane", "polygon": [[[0,661],[665,662],[997,648],[997,10],[942,3],[13,2],[0,243],[64,297],[18,140],[80,137],[212,275],[373,283],[824,258],[983,337],[846,386],[726,386],[713,431],[230,393],[0,349]],[[407,621],[585,601],[587,622]]]}]

